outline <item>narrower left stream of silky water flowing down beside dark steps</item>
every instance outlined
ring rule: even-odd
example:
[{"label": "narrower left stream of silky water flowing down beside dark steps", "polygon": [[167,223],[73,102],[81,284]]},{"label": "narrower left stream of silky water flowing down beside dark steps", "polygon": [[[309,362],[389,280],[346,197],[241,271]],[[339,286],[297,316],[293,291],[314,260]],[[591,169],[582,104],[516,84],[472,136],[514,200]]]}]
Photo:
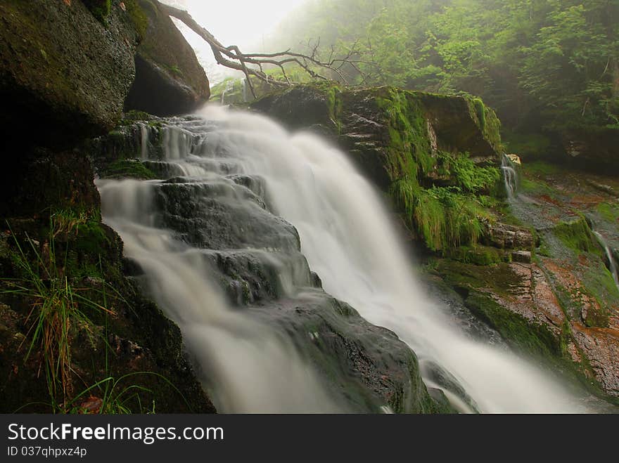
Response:
[{"label": "narrower left stream of silky water flowing down beside dark steps", "polygon": [[181,328],[219,412],[342,412],[291,343],[231,311],[199,249],[152,226],[152,182],[98,181],[103,217],[147,276],[148,292]]}]

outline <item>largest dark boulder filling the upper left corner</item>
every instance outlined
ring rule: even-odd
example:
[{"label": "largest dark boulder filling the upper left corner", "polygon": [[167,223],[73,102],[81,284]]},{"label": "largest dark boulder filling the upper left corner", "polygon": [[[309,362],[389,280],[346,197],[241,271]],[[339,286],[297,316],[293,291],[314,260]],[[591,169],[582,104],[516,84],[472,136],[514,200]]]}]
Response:
[{"label": "largest dark boulder filling the upper left corner", "polygon": [[101,20],[79,0],[0,3],[0,125],[13,141],[67,148],[115,126],[139,37],[112,3]]}]

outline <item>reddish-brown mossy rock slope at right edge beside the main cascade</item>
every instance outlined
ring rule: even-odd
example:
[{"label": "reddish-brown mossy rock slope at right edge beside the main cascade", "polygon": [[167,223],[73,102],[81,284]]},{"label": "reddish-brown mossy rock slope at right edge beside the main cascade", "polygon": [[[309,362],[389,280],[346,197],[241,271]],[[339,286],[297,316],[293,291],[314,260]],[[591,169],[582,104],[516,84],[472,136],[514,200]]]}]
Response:
[{"label": "reddish-brown mossy rock slope at right edge beside the main cascade", "polygon": [[617,398],[619,289],[611,259],[619,256],[619,179],[527,163],[521,176],[509,204],[520,225],[490,221],[484,237],[511,262],[442,259],[438,273],[513,346],[551,356]]}]

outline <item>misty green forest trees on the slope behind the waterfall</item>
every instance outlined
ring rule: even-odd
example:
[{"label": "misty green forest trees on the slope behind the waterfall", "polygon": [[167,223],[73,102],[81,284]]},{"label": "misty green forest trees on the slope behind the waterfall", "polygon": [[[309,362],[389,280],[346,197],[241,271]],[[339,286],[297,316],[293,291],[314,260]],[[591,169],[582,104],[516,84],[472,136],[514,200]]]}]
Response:
[{"label": "misty green forest trees on the slope behind the waterfall", "polygon": [[354,46],[349,82],[479,95],[537,133],[619,130],[617,1],[316,0],[295,18],[272,48]]}]

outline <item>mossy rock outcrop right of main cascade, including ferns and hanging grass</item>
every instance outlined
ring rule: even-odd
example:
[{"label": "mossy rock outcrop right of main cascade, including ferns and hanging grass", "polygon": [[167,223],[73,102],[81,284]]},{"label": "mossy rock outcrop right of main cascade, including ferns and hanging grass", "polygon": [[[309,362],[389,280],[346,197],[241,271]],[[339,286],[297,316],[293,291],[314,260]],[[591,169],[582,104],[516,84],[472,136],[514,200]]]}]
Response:
[{"label": "mossy rock outcrop right of main cascade, including ferns and hanging grass", "polygon": [[253,108],[330,136],[388,193],[428,249],[477,244],[499,195],[499,120],[476,98],[305,84]]}]

